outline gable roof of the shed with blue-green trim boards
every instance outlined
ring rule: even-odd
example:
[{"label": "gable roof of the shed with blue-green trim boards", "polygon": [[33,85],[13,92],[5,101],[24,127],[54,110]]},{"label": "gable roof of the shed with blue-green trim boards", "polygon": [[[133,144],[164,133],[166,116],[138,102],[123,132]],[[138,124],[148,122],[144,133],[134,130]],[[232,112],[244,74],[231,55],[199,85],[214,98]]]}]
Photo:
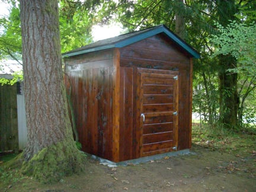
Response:
[{"label": "gable roof of the shed with blue-green trim boards", "polygon": [[70,57],[75,55],[81,55],[84,53],[95,52],[98,50],[111,49],[115,47],[125,47],[129,44],[136,43],[137,41],[146,39],[148,37],[155,36],[156,34],[164,33],[169,39],[174,41],[177,46],[180,46],[185,52],[187,52],[191,57],[200,58],[199,53],[193,49],[189,44],[185,43],[184,40],[180,39],[177,35],[172,33],[168,27],[165,25],[158,25],[156,27],[146,28],[145,30],[135,31],[132,33],[122,34],[117,37],[112,37],[95,43],[88,44],[87,46],[80,47],[78,49],[72,50],[71,52],[66,52],[63,57]]}]

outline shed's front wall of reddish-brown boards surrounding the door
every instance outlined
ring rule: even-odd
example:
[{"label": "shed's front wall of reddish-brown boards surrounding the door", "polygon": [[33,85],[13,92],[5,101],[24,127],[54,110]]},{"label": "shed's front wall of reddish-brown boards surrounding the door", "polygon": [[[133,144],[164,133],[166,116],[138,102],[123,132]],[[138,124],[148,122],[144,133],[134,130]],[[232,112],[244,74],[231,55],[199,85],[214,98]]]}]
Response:
[{"label": "shed's front wall of reddish-brown boards surrounding the door", "polygon": [[[124,99],[120,99],[120,105],[126,106],[125,98],[130,98],[133,100],[133,108],[130,108],[130,112],[124,115],[124,118],[128,118],[129,114],[133,114],[133,120],[127,120],[125,127],[120,126],[120,130],[125,130],[125,133],[133,134],[133,145],[132,150],[134,151],[130,155],[130,138],[125,135],[122,136],[123,140],[120,139],[120,150],[121,148],[125,151],[123,153],[123,158],[120,157],[120,160],[138,158],[139,153],[139,135],[140,127],[137,127],[136,117],[137,114],[137,91],[136,83],[137,72],[134,69],[136,68],[148,68],[148,69],[164,69],[168,71],[178,71],[179,72],[179,101],[178,101],[178,149],[188,149],[191,148],[191,66],[190,58],[180,52],[180,48],[175,46],[169,41],[165,36],[159,34],[148,39],[139,41],[130,46],[123,47],[120,49],[120,66],[121,66],[121,82],[126,82],[121,86],[121,92],[125,93]],[[133,73],[131,72],[133,71]],[[126,81],[126,76],[129,74],[129,79],[132,79],[133,83]],[[130,80],[131,81],[131,80]],[[133,88],[133,92],[126,89]],[[122,96],[121,96],[122,97]],[[121,110],[124,110],[120,106]],[[120,117],[123,115],[123,111],[120,111]],[[127,117],[128,115],[128,117]],[[122,120],[123,122],[124,120]],[[122,123],[120,123],[122,124]],[[121,135],[121,131],[120,131]],[[122,143],[123,142],[123,143]],[[137,149],[137,150],[136,150]],[[121,152],[121,151],[120,151]]]}]

